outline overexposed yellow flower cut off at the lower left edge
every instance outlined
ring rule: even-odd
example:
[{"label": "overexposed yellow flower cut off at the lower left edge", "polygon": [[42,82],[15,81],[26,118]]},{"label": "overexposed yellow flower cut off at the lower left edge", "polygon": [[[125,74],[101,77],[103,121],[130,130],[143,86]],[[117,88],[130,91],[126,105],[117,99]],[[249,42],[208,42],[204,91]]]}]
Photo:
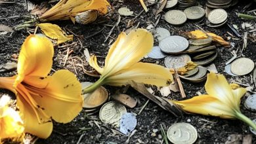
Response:
[{"label": "overexposed yellow flower cut off at the lower left edge", "polygon": [[23,121],[17,111],[8,106],[10,97],[0,98],[0,143],[2,139],[20,137],[24,132]]}]

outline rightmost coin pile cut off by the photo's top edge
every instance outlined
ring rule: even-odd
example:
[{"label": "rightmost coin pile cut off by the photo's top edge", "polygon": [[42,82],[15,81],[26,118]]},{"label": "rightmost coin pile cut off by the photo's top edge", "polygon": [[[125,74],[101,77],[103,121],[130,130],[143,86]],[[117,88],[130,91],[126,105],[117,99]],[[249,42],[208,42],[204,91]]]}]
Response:
[{"label": "rightmost coin pile cut off by the photo's top edge", "polygon": [[211,9],[227,9],[238,3],[238,0],[207,0],[206,6]]}]

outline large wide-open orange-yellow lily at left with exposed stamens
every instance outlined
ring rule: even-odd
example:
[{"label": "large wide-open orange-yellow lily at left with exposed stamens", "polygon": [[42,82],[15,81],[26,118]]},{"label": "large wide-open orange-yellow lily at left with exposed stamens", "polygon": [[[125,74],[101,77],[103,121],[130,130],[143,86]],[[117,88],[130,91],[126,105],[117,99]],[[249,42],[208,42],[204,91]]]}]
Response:
[{"label": "large wide-open orange-yellow lily at left with exposed stamens", "polygon": [[0,88],[16,94],[25,132],[47,138],[53,122],[67,123],[82,109],[81,84],[68,70],[47,76],[53,64],[53,44],[42,35],[30,35],[18,58],[18,75],[0,77]]}]

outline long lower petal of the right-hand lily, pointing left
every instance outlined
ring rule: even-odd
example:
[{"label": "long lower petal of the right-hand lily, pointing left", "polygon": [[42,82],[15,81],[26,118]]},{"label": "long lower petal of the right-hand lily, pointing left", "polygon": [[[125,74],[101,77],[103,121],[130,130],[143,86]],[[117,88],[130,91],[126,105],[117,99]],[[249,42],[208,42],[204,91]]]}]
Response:
[{"label": "long lower petal of the right-hand lily, pointing left", "polygon": [[226,103],[209,95],[194,96],[191,99],[183,101],[172,101],[180,105],[184,111],[190,113],[198,113],[201,115],[209,115],[221,118],[235,118],[234,113]]}]

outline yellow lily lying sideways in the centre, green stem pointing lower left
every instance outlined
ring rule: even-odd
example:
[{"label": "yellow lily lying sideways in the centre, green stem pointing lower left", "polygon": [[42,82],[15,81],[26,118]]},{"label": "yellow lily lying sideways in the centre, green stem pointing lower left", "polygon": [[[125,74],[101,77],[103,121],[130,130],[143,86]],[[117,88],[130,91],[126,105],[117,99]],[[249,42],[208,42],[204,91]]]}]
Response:
[{"label": "yellow lily lying sideways in the centre, green stem pointing lower left", "polygon": [[167,86],[173,80],[169,69],[153,63],[139,62],[152,50],[153,43],[153,36],[146,29],[133,30],[128,35],[121,32],[108,50],[103,68],[98,66],[96,56],[91,57],[89,64],[101,77],[83,90],[83,93],[92,92],[102,84],[122,86],[131,81]]}]

